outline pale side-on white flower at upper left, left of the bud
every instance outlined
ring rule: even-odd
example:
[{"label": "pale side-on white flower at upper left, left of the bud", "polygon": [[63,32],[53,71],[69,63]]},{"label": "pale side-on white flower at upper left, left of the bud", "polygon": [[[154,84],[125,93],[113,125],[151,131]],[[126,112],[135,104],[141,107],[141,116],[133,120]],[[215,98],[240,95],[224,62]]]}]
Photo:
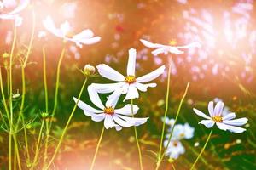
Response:
[{"label": "pale side-on white flower at upper left, left of the bud", "polygon": [[94,37],[93,32],[90,29],[81,31],[79,34],[73,34],[70,24],[65,21],[61,24],[60,28],[55,27],[54,21],[50,16],[43,21],[45,29],[56,37],[61,37],[65,41],[75,42],[79,48],[83,47],[83,44],[90,45],[101,40],[101,37]]}]

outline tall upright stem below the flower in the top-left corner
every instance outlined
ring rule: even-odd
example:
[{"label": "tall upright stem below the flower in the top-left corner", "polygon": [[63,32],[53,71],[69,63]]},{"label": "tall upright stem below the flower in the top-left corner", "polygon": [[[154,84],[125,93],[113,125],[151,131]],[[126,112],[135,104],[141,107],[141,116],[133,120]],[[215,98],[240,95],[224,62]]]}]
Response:
[{"label": "tall upright stem below the flower in the top-left corner", "polygon": [[14,28],[14,40],[12,44],[11,53],[9,56],[9,110],[10,110],[10,125],[9,125],[9,170],[12,169],[12,135],[13,135],[13,82],[12,82],[12,65],[13,65],[13,57],[15,53],[15,42],[17,37],[16,27]]}]

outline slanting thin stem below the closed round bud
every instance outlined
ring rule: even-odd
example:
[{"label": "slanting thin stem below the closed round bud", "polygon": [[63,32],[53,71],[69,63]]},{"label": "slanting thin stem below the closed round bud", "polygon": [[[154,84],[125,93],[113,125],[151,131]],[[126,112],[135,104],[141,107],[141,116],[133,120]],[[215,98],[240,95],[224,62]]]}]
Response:
[{"label": "slanting thin stem below the closed round bud", "polygon": [[67,120],[66,126],[65,126],[64,129],[63,129],[63,132],[62,132],[62,134],[61,134],[61,138],[60,138],[60,140],[59,140],[59,143],[58,143],[57,146],[55,147],[55,148],[56,148],[56,149],[55,149],[55,153],[54,153],[54,155],[52,156],[51,160],[49,161],[49,164],[48,164],[48,166],[45,168],[45,170],[49,169],[51,163],[55,160],[55,156],[57,155],[58,151],[59,151],[60,148],[61,148],[62,141],[63,141],[63,139],[64,139],[64,136],[65,136],[66,132],[67,132],[67,127],[69,126],[69,123],[71,122],[71,119],[72,119],[72,117],[73,117],[74,111],[76,111],[76,108],[77,108],[78,103],[79,103],[79,99],[81,98],[81,95],[83,94],[83,91],[84,91],[84,87],[85,87],[86,82],[87,82],[87,77],[85,77],[84,84],[83,84],[83,86],[82,86],[82,88],[81,88],[81,90],[80,90],[80,92],[79,92],[78,101],[77,101],[76,104],[73,106],[73,111],[71,112],[71,114],[70,114],[70,116],[69,116],[69,118],[68,118],[68,120]]}]

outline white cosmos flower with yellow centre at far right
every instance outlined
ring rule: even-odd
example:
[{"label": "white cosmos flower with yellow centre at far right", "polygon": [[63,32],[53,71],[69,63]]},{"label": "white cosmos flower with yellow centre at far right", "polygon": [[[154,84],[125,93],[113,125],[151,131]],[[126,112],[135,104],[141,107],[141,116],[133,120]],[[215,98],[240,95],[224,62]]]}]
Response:
[{"label": "white cosmos flower with yellow centre at far right", "polygon": [[[210,116],[207,116],[203,112],[193,109],[196,115],[201,116],[207,120],[202,120],[199,122],[200,124],[205,125],[207,128],[213,127],[216,123],[217,127],[221,130],[228,130],[232,133],[242,133],[246,131],[245,128],[236,127],[242,126],[247,123],[247,118],[234,119],[236,117],[236,113],[229,113],[226,116],[223,115],[224,103],[222,101],[218,101],[217,105],[213,108],[213,101],[210,101],[208,104],[208,111]],[[233,120],[234,119],[234,120]]]}]

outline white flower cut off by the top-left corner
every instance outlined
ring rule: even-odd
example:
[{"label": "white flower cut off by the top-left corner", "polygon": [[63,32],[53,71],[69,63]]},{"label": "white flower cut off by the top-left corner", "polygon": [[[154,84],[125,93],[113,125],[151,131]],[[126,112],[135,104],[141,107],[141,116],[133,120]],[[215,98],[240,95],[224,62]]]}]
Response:
[{"label": "white flower cut off by the top-left corner", "polygon": [[[23,19],[20,17],[19,14],[22,10],[24,10],[29,5],[29,3],[30,3],[29,0],[20,0],[19,5],[14,10],[6,14],[0,14],[0,19],[15,20],[15,26],[21,26]],[[3,1],[0,3],[0,8],[10,7],[13,4],[14,4],[13,1],[12,2],[10,2],[9,0]]]}]

